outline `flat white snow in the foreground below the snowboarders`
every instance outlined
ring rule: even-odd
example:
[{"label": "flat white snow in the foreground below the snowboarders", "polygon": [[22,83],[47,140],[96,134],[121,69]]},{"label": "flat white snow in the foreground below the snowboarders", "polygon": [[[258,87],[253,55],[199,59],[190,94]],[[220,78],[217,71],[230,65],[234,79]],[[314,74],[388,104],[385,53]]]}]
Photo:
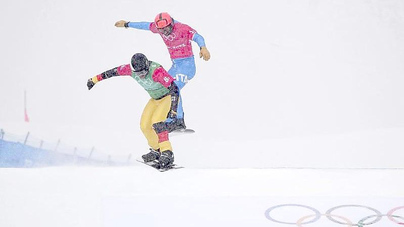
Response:
[{"label": "flat white snow in the foreground below the snowboarders", "polygon": [[[302,204],[325,213],[358,204],[386,214],[404,205],[402,169],[201,169],[168,172],[132,167],[7,168],[0,171],[0,223],[4,227],[71,226],[289,226],[265,211]],[[295,222],[313,214],[283,207],[271,215]],[[332,212],[358,221],[374,212]],[[404,217],[404,209],[394,215]],[[341,226],[322,217],[312,227]],[[399,226],[384,217],[374,227]]]}]

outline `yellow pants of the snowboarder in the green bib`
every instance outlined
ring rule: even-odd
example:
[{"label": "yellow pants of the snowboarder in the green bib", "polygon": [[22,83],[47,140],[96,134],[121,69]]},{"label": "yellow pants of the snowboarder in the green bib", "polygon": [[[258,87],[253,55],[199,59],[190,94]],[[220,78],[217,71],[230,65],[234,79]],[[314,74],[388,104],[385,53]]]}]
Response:
[{"label": "yellow pants of the snowboarder in the green bib", "polygon": [[168,140],[168,131],[159,126],[164,125],[170,107],[171,96],[166,96],[160,100],[150,99],[140,120],[140,128],[149,146],[154,150],[160,149],[161,152],[172,151],[171,143]]}]

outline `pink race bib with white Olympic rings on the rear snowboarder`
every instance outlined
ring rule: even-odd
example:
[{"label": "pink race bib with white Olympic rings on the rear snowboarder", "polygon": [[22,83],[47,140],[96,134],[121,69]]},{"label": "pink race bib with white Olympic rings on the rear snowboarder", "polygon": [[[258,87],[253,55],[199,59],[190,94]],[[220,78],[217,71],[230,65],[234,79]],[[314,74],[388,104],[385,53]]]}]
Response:
[{"label": "pink race bib with white Olympic rings on the rear snowboarder", "polygon": [[150,23],[150,31],[158,33],[163,38],[171,59],[186,58],[193,56],[191,40],[196,34],[196,30],[186,24],[175,22],[172,32],[168,36],[158,32],[154,23]]}]

